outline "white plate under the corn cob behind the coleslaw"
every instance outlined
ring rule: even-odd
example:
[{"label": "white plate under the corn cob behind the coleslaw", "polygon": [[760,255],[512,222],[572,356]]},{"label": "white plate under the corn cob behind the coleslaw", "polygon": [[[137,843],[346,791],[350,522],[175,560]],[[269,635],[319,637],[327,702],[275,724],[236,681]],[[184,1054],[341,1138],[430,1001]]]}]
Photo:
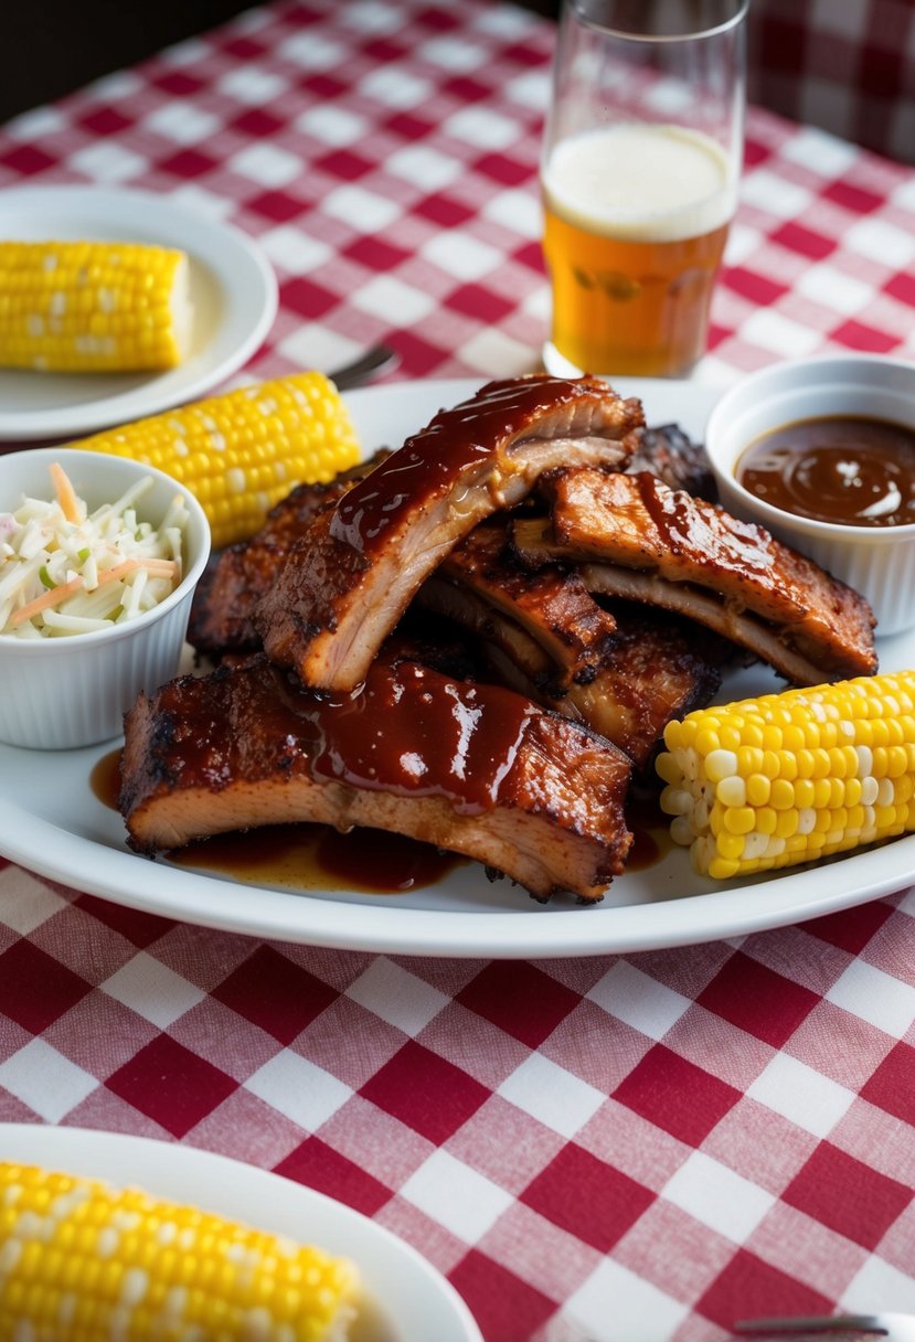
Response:
[{"label": "white plate under the corn cob behind the coleslaw", "polygon": [[276,315],[276,276],[258,244],[168,196],[105,187],[0,192],[0,238],[178,247],[191,263],[192,348],[180,368],[145,373],[0,369],[0,440],[71,439],[205,395],[256,352]]}]

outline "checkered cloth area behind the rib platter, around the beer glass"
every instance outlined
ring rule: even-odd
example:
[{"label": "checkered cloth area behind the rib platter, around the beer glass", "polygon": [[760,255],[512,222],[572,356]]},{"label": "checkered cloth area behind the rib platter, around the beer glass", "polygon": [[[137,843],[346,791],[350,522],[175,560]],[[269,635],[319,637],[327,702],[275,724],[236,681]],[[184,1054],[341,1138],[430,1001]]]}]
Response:
[{"label": "checkered cloth area behind the rib platter, around the beer glass", "polygon": [[[398,377],[523,372],[549,319],[551,50],[553,27],[507,4],[286,0],[0,129],[0,189],[137,187],[256,236],[280,311],[246,373],[334,366],[378,338]],[[746,158],[696,376],[915,357],[915,173],[758,109]]]}]

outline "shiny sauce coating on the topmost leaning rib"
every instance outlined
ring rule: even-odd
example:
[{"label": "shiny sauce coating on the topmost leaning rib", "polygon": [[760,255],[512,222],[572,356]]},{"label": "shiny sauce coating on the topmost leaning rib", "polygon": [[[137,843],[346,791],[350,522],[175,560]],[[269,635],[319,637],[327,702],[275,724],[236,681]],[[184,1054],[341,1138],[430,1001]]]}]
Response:
[{"label": "shiny sauce coating on the topmost leaning rib", "polygon": [[[594,393],[598,395],[597,392]],[[354,486],[337,505],[330,534],[372,558],[419,498],[435,498],[474,462],[484,462],[525,429],[543,407],[581,400],[582,388],[561,377],[491,382],[470,401],[439,411],[427,428]]]}]

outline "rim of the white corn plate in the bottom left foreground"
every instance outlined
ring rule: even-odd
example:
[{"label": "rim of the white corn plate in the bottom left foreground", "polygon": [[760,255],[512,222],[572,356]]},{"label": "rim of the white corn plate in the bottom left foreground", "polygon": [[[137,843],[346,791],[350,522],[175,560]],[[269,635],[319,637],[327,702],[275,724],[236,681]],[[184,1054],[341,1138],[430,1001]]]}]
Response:
[{"label": "rim of the white corn plate in the bottom left foreground", "polygon": [[[389,1282],[392,1267],[394,1272],[400,1267],[405,1278],[401,1290],[419,1292],[423,1296],[424,1307],[428,1308],[432,1300],[444,1311],[433,1322],[436,1329],[440,1329],[443,1323],[449,1325],[448,1333],[440,1334],[445,1337],[445,1342],[483,1342],[483,1335],[467,1302],[444,1274],[419,1249],[354,1206],[275,1170],[186,1142],[169,1142],[134,1133],[51,1123],[0,1122],[0,1159],[34,1162],[48,1169],[56,1168],[67,1173],[94,1176],[107,1180],[115,1188],[123,1188],[126,1182],[130,1182],[134,1186],[145,1188],[157,1197],[185,1201],[201,1206],[204,1210],[215,1210],[237,1221],[274,1231],[274,1233],[294,1233],[299,1243],[317,1244],[330,1253],[349,1253],[361,1270],[372,1300],[381,1308],[385,1322],[393,1325],[396,1342],[424,1342],[421,1333],[415,1331],[411,1326],[412,1321],[398,1318],[400,1310],[394,1312],[381,1291]],[[60,1159],[60,1164],[54,1166],[51,1161],[56,1159]],[[162,1166],[165,1166],[164,1176]],[[137,1173],[127,1173],[129,1168],[136,1168]],[[121,1173],[122,1170],[125,1173]],[[180,1177],[181,1188],[186,1186],[188,1193],[164,1190],[169,1176],[176,1181]],[[200,1193],[195,1189],[211,1184],[215,1189],[213,1205],[208,1206],[205,1198],[211,1194],[205,1193],[204,1201],[201,1201]],[[252,1208],[252,1198],[259,1189],[263,1189],[267,1196],[258,1204],[256,1212],[246,1209]],[[306,1227],[309,1216],[315,1216],[315,1213],[318,1220],[330,1221],[330,1231],[325,1227],[323,1232],[325,1240],[331,1240],[330,1244],[322,1243],[319,1231],[290,1232],[290,1219],[299,1215],[298,1202],[302,1202],[301,1215]],[[347,1233],[358,1236],[362,1251],[366,1247],[374,1248],[381,1257],[382,1271],[373,1272],[370,1263],[360,1261],[360,1253],[346,1248]],[[339,1243],[337,1243],[337,1236]],[[369,1245],[365,1245],[365,1240],[369,1241]],[[411,1302],[405,1299],[404,1303],[409,1304]],[[390,1342],[394,1339],[392,1338]]]}]

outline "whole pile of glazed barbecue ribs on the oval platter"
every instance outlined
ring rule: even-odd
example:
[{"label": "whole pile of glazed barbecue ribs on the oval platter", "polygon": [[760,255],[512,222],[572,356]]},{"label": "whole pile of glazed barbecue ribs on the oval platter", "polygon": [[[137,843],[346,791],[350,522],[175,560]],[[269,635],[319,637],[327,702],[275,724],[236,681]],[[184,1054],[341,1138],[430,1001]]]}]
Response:
[{"label": "whole pile of glazed barbecue ribs on the oval platter", "polygon": [[398,451],[294,491],[223,556],[193,625],[199,650],[264,651],[126,715],[131,847],[362,825],[537,899],[600,899],[632,843],[633,770],[714,695],[734,644],[796,683],[876,670],[860,596],[627,471],[702,479],[692,444],[643,428],[597,378],[490,382]]}]

